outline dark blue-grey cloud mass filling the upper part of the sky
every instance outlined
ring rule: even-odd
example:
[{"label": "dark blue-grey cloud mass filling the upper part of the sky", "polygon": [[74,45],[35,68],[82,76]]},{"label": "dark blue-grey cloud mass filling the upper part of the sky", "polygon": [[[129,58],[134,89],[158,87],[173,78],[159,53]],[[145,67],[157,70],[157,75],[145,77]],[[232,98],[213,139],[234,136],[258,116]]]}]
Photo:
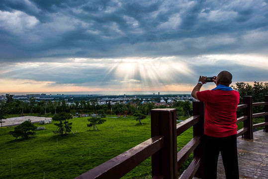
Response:
[{"label": "dark blue-grey cloud mass filling the upper part of the sky", "polygon": [[[0,10],[0,61],[267,49],[267,43],[251,48],[254,39],[242,45],[241,40],[219,42],[214,48],[196,48],[192,43],[200,37],[206,43],[211,36],[243,39],[252,31],[267,34],[268,5],[264,0],[2,0]],[[163,43],[180,43],[184,49],[175,51]],[[245,46],[250,47],[245,50]]]}]

